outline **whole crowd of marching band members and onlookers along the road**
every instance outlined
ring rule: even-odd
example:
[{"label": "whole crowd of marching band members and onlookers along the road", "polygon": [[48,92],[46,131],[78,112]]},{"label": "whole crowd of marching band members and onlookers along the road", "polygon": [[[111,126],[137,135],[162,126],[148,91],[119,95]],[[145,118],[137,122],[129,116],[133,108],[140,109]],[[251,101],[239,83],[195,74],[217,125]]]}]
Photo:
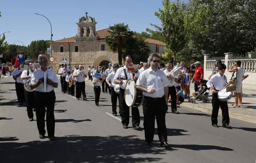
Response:
[{"label": "whole crowd of marching band members and onlookers along the road", "polygon": [[[165,125],[165,114],[168,113],[168,102],[171,103],[171,112],[178,114],[177,105],[184,102],[185,99],[190,98],[190,83],[194,83],[195,91],[192,96],[200,93],[205,87],[212,91],[212,126],[218,127],[217,116],[219,108],[223,113],[222,125],[230,128],[228,104],[227,101],[220,101],[217,93],[227,85],[227,77],[224,75],[226,65],[222,64],[221,60],[216,60],[215,67],[212,74],[209,76],[207,83],[202,83],[201,79],[204,77],[204,70],[201,67],[201,62],[196,61],[191,66],[185,67],[183,61],[180,62],[179,67],[172,65],[172,63],[160,63],[160,55],[158,53],[150,54],[148,61],[140,62],[139,71],[135,74],[128,72],[128,65],[132,64],[132,57],[127,55],[124,57],[124,66],[117,63],[108,67],[105,66],[89,66],[84,69],[83,65],[77,65],[74,70],[67,64],[60,65],[58,75],[60,75],[61,91],[70,96],[75,96],[76,99],[86,101],[85,80],[90,80],[93,83],[93,91],[95,94],[95,105],[99,106],[100,93],[109,93],[111,95],[112,114],[117,116],[117,99],[119,101],[119,114],[121,123],[124,129],[128,129],[130,107],[125,103],[125,85],[129,79],[136,82],[136,88],[143,93],[142,107],[144,115],[144,130],[145,140],[147,145],[152,145],[154,137],[155,118],[157,121],[157,129],[160,145],[169,148],[167,143],[167,131]],[[47,68],[47,58],[45,55],[38,56],[40,69],[33,69],[33,62],[29,61],[28,70],[21,69],[24,64],[19,63],[18,67],[13,70],[12,77],[15,80],[15,89],[17,93],[18,102],[22,105],[26,102],[27,113],[29,121],[33,121],[36,111],[37,128],[39,131],[39,138],[45,138],[45,124],[44,116],[46,114],[46,125],[48,138],[56,140],[54,137],[54,104],[55,92],[54,89],[58,87],[59,80],[54,71]],[[236,77],[237,82],[235,91],[235,104],[232,107],[242,107],[242,80],[248,75],[240,67],[241,61],[236,63],[229,69],[233,72],[232,77]],[[180,73],[173,75],[174,68],[180,69]],[[100,76],[97,76],[100,74]],[[88,77],[88,79],[87,79]],[[29,83],[29,89],[25,89],[24,82]],[[206,85],[205,85],[206,84]],[[184,92],[184,93],[183,93]],[[25,95],[25,96],[24,96]],[[198,99],[200,100],[200,99]],[[44,101],[47,101],[45,103]],[[140,112],[138,106],[132,106],[132,128],[140,129]]]}]

